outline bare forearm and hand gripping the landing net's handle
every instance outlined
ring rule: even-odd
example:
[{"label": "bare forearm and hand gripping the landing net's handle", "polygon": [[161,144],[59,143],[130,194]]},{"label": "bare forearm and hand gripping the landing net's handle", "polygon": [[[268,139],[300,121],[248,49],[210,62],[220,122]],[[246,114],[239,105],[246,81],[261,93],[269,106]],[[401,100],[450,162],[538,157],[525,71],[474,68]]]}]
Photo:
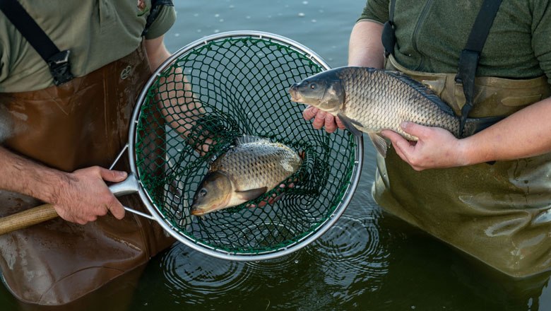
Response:
[{"label": "bare forearm and hand gripping the landing net's handle", "polygon": [[122,182],[126,172],[100,167],[62,172],[23,158],[0,146],[0,189],[53,204],[66,221],[85,224],[111,212],[124,217],[124,208],[107,182]]}]

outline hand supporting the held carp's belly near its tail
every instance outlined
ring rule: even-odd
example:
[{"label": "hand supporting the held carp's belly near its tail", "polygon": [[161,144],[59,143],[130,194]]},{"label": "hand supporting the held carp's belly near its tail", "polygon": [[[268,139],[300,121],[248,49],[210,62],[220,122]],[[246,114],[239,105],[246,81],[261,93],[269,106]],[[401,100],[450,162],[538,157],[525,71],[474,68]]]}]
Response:
[{"label": "hand supporting the held carp's belly near its tail", "polygon": [[463,157],[463,141],[456,139],[449,131],[413,122],[403,122],[401,128],[418,140],[408,141],[388,129],[381,131],[381,134],[392,141],[396,153],[414,170],[453,168],[468,164]]}]

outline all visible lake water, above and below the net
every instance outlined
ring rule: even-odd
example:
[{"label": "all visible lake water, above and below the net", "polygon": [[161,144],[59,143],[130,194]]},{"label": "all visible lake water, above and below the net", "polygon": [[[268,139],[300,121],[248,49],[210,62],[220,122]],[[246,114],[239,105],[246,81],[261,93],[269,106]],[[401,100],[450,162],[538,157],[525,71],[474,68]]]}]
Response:
[{"label": "all visible lake water, above and below the net", "polygon": [[[365,1],[176,0],[166,36],[175,52],[206,35],[261,30],[344,66]],[[336,225],[312,245],[268,262],[230,262],[177,244],[137,283],[96,293],[84,310],[551,310],[547,278],[514,281],[387,215],[370,195],[374,151],[365,141],[360,185]],[[125,293],[132,292],[129,303]],[[101,308],[101,309],[100,309]],[[0,310],[19,307],[4,287]],[[54,309],[58,310],[58,309]]]}]

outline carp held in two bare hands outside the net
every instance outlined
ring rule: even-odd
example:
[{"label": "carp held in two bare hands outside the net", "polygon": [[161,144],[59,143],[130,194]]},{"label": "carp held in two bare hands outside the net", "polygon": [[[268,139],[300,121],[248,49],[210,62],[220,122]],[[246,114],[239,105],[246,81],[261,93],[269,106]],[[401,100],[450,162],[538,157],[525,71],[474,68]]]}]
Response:
[{"label": "carp held in two bare hands outside the net", "polygon": [[387,148],[380,134],[383,129],[417,141],[417,137],[401,129],[400,124],[405,121],[442,127],[458,138],[470,136],[495,122],[485,124],[479,119],[467,119],[463,134],[460,134],[460,118],[451,107],[425,85],[398,71],[340,67],[294,83],[289,93],[292,101],[335,115],[353,134],[367,133],[383,156]]}]

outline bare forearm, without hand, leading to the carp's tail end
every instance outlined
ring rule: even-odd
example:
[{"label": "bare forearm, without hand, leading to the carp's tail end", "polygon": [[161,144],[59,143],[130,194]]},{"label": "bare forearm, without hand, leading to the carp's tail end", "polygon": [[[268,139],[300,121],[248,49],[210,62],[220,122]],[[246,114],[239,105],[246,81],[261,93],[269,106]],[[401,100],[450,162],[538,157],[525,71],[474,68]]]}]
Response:
[{"label": "bare forearm, without hand, leading to the carp's tail end", "polygon": [[478,134],[461,139],[466,164],[551,152],[551,98],[536,102]]}]

